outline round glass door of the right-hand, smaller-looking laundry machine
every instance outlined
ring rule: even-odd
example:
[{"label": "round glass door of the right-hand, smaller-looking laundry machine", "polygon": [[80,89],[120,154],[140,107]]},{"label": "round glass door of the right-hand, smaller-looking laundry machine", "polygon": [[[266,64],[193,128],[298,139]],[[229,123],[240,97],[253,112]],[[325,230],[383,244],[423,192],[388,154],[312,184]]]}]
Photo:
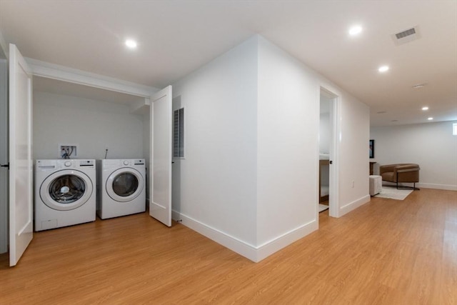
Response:
[{"label": "round glass door of the right-hand, smaller-looking laundry machine", "polygon": [[141,194],[144,187],[143,176],[136,169],[117,169],[106,179],[106,193],[119,202],[132,201]]}]

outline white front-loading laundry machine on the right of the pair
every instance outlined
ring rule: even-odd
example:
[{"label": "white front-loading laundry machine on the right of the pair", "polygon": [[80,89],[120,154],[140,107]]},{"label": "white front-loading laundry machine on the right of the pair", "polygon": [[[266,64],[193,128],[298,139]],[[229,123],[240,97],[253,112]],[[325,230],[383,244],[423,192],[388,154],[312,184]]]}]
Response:
[{"label": "white front-loading laundry machine on the right of the pair", "polygon": [[97,170],[97,215],[101,219],[146,211],[144,159],[101,159]]}]

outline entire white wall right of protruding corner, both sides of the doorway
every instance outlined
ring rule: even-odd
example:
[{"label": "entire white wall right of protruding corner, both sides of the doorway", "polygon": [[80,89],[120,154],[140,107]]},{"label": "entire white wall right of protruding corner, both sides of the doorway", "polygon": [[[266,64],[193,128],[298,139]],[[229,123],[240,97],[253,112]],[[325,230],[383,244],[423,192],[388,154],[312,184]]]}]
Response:
[{"label": "entire white wall right of protruding corner, both sides of the doorway", "polygon": [[[369,108],[259,37],[258,260],[318,228],[321,87],[338,96],[336,216],[370,200]],[[354,181],[352,186],[351,181]]]}]

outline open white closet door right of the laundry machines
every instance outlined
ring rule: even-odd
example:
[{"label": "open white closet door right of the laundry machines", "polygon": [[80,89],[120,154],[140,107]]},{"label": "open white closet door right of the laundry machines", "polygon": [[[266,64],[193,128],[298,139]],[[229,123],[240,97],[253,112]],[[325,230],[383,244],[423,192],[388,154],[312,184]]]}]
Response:
[{"label": "open white closet door right of the laundry machines", "polygon": [[171,226],[171,86],[151,96],[149,214]]}]

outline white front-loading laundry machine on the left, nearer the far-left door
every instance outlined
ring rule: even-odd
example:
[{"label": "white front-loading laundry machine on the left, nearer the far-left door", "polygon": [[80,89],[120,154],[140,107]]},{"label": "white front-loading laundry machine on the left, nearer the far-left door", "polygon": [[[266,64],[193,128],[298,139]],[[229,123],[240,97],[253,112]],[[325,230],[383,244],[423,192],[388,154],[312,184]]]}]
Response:
[{"label": "white front-loading laundry machine on the left, nearer the far-left door", "polygon": [[95,218],[95,160],[36,160],[35,231],[82,224]]}]

